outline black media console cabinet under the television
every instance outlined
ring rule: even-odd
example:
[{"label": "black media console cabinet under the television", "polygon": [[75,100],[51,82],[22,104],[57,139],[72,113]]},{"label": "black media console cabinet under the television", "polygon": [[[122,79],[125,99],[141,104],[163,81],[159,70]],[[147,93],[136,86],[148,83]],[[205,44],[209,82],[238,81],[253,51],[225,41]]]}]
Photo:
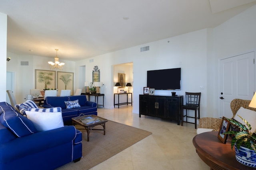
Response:
[{"label": "black media console cabinet under the television", "polygon": [[176,120],[180,125],[183,105],[183,96],[161,96],[140,94],[141,115],[161,117]]}]

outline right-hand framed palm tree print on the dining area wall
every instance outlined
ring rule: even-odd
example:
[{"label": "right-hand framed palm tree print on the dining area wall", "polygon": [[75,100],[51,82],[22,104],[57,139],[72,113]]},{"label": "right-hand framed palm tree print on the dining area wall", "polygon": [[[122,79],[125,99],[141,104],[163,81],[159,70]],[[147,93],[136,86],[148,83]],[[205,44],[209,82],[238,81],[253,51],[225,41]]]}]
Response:
[{"label": "right-hand framed palm tree print on the dining area wall", "polygon": [[57,89],[60,94],[61,90],[71,90],[70,95],[73,95],[74,73],[57,71]]}]

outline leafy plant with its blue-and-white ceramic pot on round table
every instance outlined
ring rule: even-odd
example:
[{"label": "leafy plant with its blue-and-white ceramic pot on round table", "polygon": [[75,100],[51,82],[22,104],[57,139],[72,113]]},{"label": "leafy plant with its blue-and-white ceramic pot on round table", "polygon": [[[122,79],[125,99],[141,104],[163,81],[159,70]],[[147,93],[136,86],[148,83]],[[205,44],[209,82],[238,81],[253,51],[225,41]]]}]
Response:
[{"label": "leafy plant with its blue-and-white ceramic pot on round table", "polygon": [[256,132],[251,132],[251,125],[238,115],[246,125],[234,120],[228,119],[234,125],[234,129],[226,132],[232,136],[231,149],[235,146],[236,160],[246,166],[256,167]]}]

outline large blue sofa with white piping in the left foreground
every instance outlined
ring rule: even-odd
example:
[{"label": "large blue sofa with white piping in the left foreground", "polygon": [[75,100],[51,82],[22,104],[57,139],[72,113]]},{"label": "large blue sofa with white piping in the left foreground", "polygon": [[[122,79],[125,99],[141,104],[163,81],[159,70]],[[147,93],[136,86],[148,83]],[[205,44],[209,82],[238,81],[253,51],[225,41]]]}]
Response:
[{"label": "large blue sofa with white piping in the left foreground", "polygon": [[0,170],[53,170],[82,157],[74,126],[38,132],[32,121],[0,102]]}]

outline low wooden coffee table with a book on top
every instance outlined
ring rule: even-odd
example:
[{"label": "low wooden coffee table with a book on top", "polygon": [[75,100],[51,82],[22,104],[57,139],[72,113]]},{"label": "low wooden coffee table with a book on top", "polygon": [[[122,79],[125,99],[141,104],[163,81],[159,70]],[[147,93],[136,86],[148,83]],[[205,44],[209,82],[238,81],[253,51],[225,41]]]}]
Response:
[{"label": "low wooden coffee table with a book on top", "polygon": [[[95,123],[90,123],[88,125],[82,123],[80,119],[86,118],[86,117],[93,117],[95,119],[99,119],[100,121],[97,121]],[[89,142],[89,134],[91,130],[97,130],[97,131],[104,131],[104,135],[106,134],[106,122],[108,119],[104,119],[102,117],[96,116],[96,115],[86,115],[86,116],[78,116],[72,118],[72,124],[73,125],[80,125],[84,127],[87,131],[87,141]],[[95,126],[101,125],[103,129],[93,129]]]}]

